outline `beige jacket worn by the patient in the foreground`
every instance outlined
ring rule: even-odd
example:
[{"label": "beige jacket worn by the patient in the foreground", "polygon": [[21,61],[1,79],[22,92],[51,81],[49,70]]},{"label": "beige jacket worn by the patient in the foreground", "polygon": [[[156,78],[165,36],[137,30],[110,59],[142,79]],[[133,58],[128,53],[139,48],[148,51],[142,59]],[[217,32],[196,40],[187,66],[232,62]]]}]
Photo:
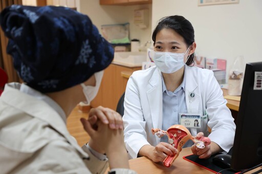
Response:
[{"label": "beige jacket worn by the patient in the foreground", "polygon": [[0,97],[1,173],[104,173],[108,162],[79,147],[60,115],[19,86],[7,84]]}]

